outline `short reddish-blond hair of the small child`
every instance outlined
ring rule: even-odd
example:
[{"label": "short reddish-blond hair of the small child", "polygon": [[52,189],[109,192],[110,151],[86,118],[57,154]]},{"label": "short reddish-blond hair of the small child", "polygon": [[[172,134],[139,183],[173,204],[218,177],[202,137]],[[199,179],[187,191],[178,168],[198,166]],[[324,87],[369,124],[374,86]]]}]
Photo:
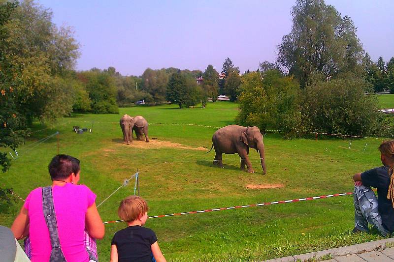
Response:
[{"label": "short reddish-blond hair of the small child", "polygon": [[138,216],[143,216],[148,209],[148,204],[141,197],[129,196],[120,202],[118,215],[122,220],[131,222],[137,220]]}]

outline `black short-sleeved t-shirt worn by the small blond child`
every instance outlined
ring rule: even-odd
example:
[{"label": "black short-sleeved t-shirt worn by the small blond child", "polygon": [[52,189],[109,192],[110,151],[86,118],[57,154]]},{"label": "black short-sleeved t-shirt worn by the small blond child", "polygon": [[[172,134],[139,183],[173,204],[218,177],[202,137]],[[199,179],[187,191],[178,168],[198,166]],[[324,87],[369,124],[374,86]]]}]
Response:
[{"label": "black short-sleeved t-shirt worn by the small blond child", "polygon": [[116,232],[111,245],[118,249],[119,262],[152,262],[151,245],[156,241],[156,234],[151,229],[130,226]]}]

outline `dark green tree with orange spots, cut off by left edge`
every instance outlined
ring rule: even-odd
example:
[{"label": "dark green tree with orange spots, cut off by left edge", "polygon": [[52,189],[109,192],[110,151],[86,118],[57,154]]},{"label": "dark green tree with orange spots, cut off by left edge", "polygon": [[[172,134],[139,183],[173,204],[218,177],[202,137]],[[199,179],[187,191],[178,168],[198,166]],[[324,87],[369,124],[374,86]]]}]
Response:
[{"label": "dark green tree with orange spots, cut off by left edge", "polygon": [[[18,112],[16,89],[22,84],[16,54],[8,49],[10,30],[7,23],[15,12],[16,2],[0,4],[0,147],[15,150],[26,137],[26,119]],[[8,152],[0,152],[2,172],[9,169]]]}]

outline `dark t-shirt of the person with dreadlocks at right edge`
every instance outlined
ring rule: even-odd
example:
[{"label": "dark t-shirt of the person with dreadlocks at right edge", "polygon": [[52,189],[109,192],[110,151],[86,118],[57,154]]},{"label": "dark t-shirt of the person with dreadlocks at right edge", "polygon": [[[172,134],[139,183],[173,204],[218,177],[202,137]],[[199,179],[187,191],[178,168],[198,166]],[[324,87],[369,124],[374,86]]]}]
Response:
[{"label": "dark t-shirt of the person with dreadlocks at right edge", "polygon": [[383,226],[390,232],[394,232],[394,208],[391,200],[387,199],[389,191],[390,175],[388,167],[374,168],[361,174],[364,186],[372,186],[378,189],[378,211],[382,217]]}]

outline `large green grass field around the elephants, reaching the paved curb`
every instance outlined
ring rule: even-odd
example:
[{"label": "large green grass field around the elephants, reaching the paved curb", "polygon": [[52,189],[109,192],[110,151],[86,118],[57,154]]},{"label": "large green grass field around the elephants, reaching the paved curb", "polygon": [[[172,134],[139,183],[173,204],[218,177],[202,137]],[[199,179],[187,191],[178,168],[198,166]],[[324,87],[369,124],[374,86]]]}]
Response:
[{"label": "large green grass field around the elephants, reaching the paved curb", "polygon": [[[57,153],[53,137],[32,147],[32,143],[56,131],[59,151],[81,160],[81,181],[97,194],[97,203],[117,189],[124,179],[140,172],[140,195],[148,201],[149,215],[161,215],[208,208],[257,204],[319,196],[353,190],[352,175],[380,165],[380,140],[311,139],[284,140],[278,134],[264,137],[267,175],[262,174],[259,154],[250,151],[257,173],[239,171],[237,155],[223,155],[225,167],[213,167],[214,153],[192,148],[211,146],[215,128],[153,123],[190,123],[225,126],[234,122],[237,105],[209,103],[207,108],[176,105],[121,108],[120,115],[76,115],[54,127],[33,133],[18,149],[20,158],[12,162],[0,182],[26,198],[38,187],[50,184],[47,165]],[[123,145],[119,118],[123,114],[142,115],[149,123],[151,140],[170,146],[134,142]],[[75,134],[73,125],[90,127],[93,133]],[[35,124],[33,130],[45,128]],[[172,147],[179,143],[187,148]],[[365,151],[364,147],[367,144]],[[137,146],[139,145],[139,146]],[[342,146],[342,147],[340,147]],[[247,184],[282,183],[283,188],[247,189]],[[132,182],[99,207],[103,221],[116,220],[119,201],[133,194]],[[0,224],[10,226],[17,202],[1,213]],[[124,223],[106,225],[106,235],[98,241],[101,261],[109,260],[113,234]],[[155,231],[168,261],[261,261],[344,245],[381,239],[378,233],[352,234],[352,196],[291,204],[276,204],[217,212],[148,219],[146,227]]]}]

